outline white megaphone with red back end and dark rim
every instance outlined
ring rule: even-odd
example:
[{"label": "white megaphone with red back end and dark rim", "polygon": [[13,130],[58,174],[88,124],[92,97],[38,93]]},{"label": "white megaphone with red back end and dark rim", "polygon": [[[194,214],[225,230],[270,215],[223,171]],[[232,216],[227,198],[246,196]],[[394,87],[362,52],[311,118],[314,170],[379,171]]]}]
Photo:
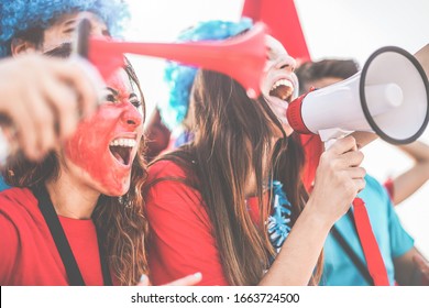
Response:
[{"label": "white megaphone with red back end and dark rim", "polygon": [[326,145],[354,131],[407,144],[428,124],[428,77],[408,52],[382,47],[352,77],[292,101],[287,119],[295,131],[319,134]]}]

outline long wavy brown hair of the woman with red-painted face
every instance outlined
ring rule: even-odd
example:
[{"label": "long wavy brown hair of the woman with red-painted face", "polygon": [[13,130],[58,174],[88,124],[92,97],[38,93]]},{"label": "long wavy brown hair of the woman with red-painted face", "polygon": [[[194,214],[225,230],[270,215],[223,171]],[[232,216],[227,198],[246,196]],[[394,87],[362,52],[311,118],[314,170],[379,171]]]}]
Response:
[{"label": "long wavy brown hair of the woman with red-painted face", "polygon": [[[138,77],[127,61],[125,72],[141,94]],[[142,187],[147,177],[143,158],[145,140],[142,138],[138,155],[133,161],[131,184],[128,193],[129,204],[124,206],[118,197],[100,196],[92,220],[109,258],[110,270],[121,285],[135,285],[142,274],[147,273],[147,260],[144,248],[147,234],[147,221],[143,212]],[[59,161],[55,153],[50,153],[43,162],[33,163],[18,157],[2,173],[6,183],[14,187],[37,187],[59,175]]]}]

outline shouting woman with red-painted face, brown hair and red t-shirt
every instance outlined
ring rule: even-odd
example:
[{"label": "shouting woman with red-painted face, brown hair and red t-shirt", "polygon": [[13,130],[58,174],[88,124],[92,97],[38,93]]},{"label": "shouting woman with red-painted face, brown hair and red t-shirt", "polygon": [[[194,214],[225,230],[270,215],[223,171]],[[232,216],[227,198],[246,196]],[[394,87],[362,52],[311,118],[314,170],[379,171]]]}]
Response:
[{"label": "shouting woman with red-painted face, brown hair and red t-shirt", "polygon": [[144,101],[130,65],[105,97],[64,146],[3,174],[14,188],[0,194],[0,285],[134,285],[147,273]]}]

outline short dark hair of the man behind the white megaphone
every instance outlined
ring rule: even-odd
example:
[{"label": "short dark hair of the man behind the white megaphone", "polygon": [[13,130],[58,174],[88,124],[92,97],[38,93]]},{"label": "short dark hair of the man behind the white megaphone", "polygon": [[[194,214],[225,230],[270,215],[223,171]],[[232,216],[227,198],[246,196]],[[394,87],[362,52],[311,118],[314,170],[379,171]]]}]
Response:
[{"label": "short dark hair of the man behind the white megaphone", "polygon": [[353,59],[322,59],[319,62],[305,62],[296,70],[300,95],[311,87],[311,82],[333,77],[346,79],[359,70],[359,65]]}]

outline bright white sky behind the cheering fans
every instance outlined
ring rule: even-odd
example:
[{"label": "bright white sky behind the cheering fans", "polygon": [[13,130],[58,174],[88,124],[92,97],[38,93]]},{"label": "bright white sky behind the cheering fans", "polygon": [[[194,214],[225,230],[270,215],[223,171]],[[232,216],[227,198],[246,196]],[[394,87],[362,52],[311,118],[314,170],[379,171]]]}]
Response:
[{"label": "bright white sky behind the cheering fans", "polygon": [[[124,38],[144,42],[172,42],[182,30],[201,20],[238,20],[244,4],[244,0],[128,1],[133,15]],[[363,67],[380,47],[394,45],[414,54],[429,43],[427,0],[295,0],[295,6],[312,61],[352,57]],[[167,97],[163,82],[165,61],[130,58],[141,79],[147,116],[151,116],[156,103]],[[428,130],[420,141],[429,143]],[[364,153],[364,167],[381,182],[411,165],[407,156],[382,141],[367,145]],[[429,257],[429,184],[396,210],[416,239],[416,246]]]}]

